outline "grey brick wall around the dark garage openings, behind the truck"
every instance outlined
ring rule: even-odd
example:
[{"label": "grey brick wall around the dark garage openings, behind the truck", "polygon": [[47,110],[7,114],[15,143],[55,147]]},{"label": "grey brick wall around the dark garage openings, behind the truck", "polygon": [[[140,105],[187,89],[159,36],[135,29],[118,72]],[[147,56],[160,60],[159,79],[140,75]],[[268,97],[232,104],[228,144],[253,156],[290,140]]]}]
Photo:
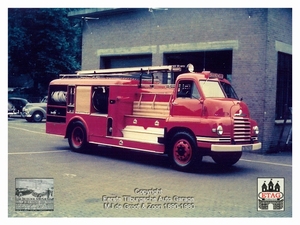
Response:
[{"label": "grey brick wall around the dark garage openings, behind the truck", "polygon": [[[83,30],[82,69],[99,68],[100,56],[163,51],[233,50],[232,83],[260,126],[262,152],[274,136],[277,75],[275,41],[292,45],[291,9],[148,9],[99,16]],[[236,43],[228,47],[224,43]],[[185,45],[187,44],[188,45]],[[165,49],[165,50],[162,50]],[[177,49],[177,50],[176,50]]]}]

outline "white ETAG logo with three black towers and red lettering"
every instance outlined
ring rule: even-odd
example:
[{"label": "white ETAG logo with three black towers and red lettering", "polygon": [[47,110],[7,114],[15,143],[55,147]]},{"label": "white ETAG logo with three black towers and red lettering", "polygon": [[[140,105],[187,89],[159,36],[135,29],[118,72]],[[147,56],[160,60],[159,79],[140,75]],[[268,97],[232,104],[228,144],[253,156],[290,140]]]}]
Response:
[{"label": "white ETAG logo with three black towers and red lettering", "polygon": [[258,211],[284,211],[284,178],[257,178]]}]

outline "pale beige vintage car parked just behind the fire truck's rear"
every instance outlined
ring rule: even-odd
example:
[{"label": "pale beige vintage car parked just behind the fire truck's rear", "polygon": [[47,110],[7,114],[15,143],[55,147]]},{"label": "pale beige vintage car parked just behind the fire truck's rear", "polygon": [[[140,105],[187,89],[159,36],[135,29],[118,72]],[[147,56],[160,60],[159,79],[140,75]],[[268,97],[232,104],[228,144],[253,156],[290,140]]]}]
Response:
[{"label": "pale beige vintage car parked just behind the fire truck's rear", "polygon": [[41,102],[28,103],[22,110],[22,117],[28,122],[41,122],[46,118],[47,98]]}]

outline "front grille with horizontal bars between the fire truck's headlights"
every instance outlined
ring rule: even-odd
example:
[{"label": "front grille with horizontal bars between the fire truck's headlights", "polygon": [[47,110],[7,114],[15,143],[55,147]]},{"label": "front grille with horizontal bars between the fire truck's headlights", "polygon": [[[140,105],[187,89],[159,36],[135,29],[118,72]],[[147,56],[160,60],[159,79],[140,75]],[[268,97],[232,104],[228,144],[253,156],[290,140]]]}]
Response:
[{"label": "front grille with horizontal bars between the fire truck's headlights", "polygon": [[234,142],[249,142],[251,140],[251,126],[248,118],[233,117]]}]

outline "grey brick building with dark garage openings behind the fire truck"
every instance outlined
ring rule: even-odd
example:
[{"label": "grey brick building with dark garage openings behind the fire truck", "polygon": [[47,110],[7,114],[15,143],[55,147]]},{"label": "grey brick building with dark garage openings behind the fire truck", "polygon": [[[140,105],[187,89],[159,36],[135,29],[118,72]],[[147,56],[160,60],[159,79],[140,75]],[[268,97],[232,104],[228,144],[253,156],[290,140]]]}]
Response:
[{"label": "grey brick building with dark garage openings behind the fire truck", "polygon": [[82,69],[193,63],[196,71],[223,73],[259,124],[262,153],[277,142],[275,121],[292,106],[292,9],[80,9],[69,16],[82,18]]}]

